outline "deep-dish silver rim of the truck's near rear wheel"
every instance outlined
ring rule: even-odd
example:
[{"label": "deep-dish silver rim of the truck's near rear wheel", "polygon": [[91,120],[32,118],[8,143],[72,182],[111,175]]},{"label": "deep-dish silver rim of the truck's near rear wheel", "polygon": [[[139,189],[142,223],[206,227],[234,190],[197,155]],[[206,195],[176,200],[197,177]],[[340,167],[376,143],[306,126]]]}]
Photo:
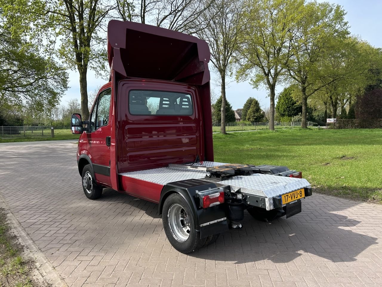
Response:
[{"label": "deep-dish silver rim of the truck's near rear wheel", "polygon": [[177,203],[171,205],[167,220],[174,238],[180,242],[186,241],[191,232],[191,220],[183,206]]}]

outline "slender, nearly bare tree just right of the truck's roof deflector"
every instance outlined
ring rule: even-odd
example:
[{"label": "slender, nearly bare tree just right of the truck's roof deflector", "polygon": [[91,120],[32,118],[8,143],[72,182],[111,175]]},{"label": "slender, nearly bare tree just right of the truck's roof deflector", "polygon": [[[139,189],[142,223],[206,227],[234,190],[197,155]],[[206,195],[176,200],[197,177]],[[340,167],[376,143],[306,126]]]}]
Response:
[{"label": "slender, nearly bare tree just right of the truck's roof deflector", "polygon": [[200,23],[209,22],[209,25],[197,32],[200,38],[208,42],[212,65],[220,75],[221,95],[223,98],[220,110],[220,131],[223,134],[225,134],[225,122],[228,121],[225,118],[225,111],[227,110],[225,107],[227,101],[225,79],[233,66],[232,55],[238,47],[237,39],[240,33],[239,23],[242,8],[243,2],[241,0],[216,0],[214,9],[205,10],[200,17]]}]

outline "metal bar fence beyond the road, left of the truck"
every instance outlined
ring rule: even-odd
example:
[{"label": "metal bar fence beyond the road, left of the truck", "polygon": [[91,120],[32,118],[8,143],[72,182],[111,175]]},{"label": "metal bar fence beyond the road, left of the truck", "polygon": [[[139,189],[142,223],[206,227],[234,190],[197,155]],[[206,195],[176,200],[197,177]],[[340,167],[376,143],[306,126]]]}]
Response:
[{"label": "metal bar fence beyond the road, left of the truck", "polygon": [[54,137],[54,130],[51,126],[0,127],[0,139],[24,137]]}]

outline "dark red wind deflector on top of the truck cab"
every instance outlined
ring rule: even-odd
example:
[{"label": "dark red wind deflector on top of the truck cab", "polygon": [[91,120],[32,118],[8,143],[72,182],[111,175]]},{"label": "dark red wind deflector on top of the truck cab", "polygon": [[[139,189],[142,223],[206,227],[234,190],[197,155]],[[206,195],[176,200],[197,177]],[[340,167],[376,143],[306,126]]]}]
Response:
[{"label": "dark red wind deflector on top of the truck cab", "polygon": [[207,43],[157,26],[111,20],[107,27],[110,68],[125,77],[194,85],[210,80]]}]

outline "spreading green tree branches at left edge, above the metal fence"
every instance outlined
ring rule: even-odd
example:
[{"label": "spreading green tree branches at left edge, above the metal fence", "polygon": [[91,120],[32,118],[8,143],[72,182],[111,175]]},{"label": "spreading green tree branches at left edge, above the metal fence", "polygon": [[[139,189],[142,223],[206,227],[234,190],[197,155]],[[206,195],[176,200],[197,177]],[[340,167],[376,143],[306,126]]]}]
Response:
[{"label": "spreading green tree branches at left edge, above the metal fence", "polygon": [[[1,9],[0,9],[1,11]],[[10,106],[28,102],[42,106],[58,103],[68,88],[68,74],[35,44],[10,32],[8,19],[0,24],[0,102]]]}]

